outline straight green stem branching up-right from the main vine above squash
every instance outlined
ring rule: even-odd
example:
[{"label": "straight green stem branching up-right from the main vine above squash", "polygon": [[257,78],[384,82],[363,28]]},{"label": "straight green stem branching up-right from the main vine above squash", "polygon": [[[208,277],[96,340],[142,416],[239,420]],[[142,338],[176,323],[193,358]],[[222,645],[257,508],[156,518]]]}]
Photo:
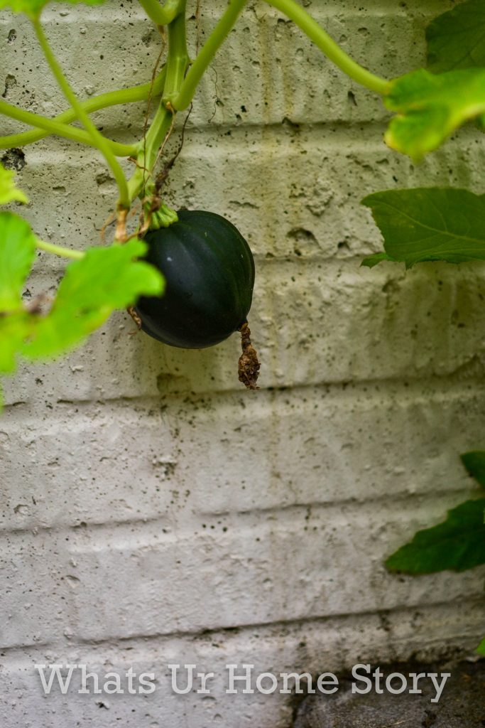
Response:
[{"label": "straight green stem branching up-right from the main vine above squash", "polygon": [[194,60],[191,68],[189,68],[188,74],[185,76],[185,81],[180,87],[180,92],[172,98],[172,106],[176,111],[183,111],[190,106],[199,81],[204,75],[204,71],[206,71],[217,50],[219,50],[231,32],[246,2],[247,0],[229,1],[224,15],[220,17],[214,30],[202,46],[196,60]]}]

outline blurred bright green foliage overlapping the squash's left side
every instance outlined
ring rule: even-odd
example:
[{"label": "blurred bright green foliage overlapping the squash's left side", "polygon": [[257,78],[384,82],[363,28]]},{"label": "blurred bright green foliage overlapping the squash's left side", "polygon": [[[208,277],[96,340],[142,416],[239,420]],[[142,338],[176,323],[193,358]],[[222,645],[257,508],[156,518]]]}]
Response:
[{"label": "blurred bright green foliage overlapping the squash's left side", "polygon": [[[141,295],[163,293],[161,274],[143,258],[147,245],[92,248],[67,266],[51,309],[41,315],[24,306],[22,289],[31,271],[37,238],[14,213],[0,213],[0,372],[15,371],[17,355],[58,355],[79,344],[118,308]],[[0,402],[1,405],[1,402]]]}]

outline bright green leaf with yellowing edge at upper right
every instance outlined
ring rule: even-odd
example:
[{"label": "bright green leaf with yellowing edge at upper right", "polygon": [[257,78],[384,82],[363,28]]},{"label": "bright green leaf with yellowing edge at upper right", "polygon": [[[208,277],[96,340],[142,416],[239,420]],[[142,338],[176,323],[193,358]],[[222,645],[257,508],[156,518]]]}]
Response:
[{"label": "bright green leaf with yellowing edge at upper right", "polygon": [[385,132],[386,143],[419,162],[461,124],[485,113],[485,68],[439,76],[413,71],[393,82],[384,103],[398,114]]}]

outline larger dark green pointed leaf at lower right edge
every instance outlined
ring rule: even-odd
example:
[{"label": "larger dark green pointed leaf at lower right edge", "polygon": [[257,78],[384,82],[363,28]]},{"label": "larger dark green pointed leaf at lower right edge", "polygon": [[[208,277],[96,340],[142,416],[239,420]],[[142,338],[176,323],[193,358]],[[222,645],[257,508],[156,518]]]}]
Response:
[{"label": "larger dark green pointed leaf at lower right edge", "polygon": [[448,518],[431,529],[417,531],[412,542],[390,555],[390,571],[430,574],[465,571],[485,563],[485,498],[469,500],[448,511]]}]

